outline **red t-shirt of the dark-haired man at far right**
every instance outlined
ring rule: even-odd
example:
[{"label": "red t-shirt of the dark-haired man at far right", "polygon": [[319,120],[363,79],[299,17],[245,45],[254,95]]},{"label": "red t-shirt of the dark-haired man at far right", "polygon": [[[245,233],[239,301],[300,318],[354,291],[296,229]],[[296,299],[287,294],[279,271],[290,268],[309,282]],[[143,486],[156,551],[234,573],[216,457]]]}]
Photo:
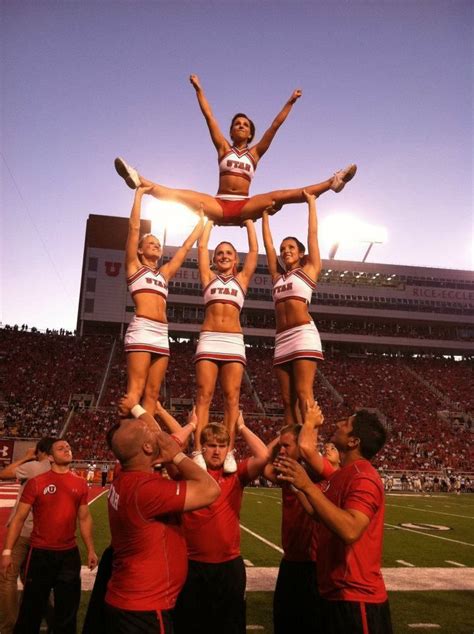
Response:
[{"label": "red t-shirt of the dark-haired man at far right", "polygon": [[329,600],[383,603],[387,592],[380,570],[385,501],[379,474],[368,460],[336,471],[323,486],[342,509],[364,513],[370,523],[360,539],[345,544],[322,522],[318,535],[318,586]]}]

